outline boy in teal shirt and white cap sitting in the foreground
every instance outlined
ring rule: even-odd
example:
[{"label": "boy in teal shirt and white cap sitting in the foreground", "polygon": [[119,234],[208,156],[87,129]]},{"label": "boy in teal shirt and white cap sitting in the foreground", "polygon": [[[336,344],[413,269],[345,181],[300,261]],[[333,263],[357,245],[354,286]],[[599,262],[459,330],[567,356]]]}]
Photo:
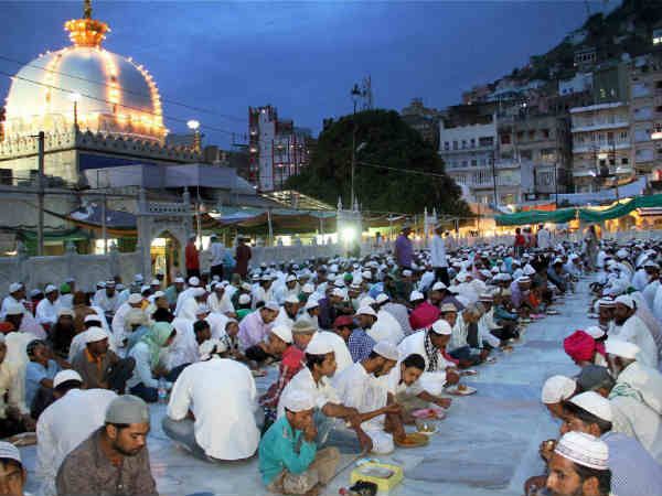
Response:
[{"label": "boy in teal shirt and white cap sitting in the foreground", "polygon": [[318,451],[313,421],[314,398],[292,391],[282,398],[285,416],[265,433],[259,443],[259,472],[273,493],[317,494],[328,484],[340,461],[335,448]]}]

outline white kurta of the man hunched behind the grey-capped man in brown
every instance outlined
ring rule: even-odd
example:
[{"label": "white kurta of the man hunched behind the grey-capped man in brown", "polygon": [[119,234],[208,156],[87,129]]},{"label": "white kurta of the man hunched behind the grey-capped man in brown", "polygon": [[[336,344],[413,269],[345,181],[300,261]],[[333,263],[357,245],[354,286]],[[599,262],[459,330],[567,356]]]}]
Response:
[{"label": "white kurta of the man hunched behind the grey-capped man in brown", "polygon": [[[57,376],[55,376],[57,380]],[[104,425],[106,409],[117,395],[106,389],[72,389],[46,408],[36,422],[36,474],[42,494],[54,496],[62,461]]]}]

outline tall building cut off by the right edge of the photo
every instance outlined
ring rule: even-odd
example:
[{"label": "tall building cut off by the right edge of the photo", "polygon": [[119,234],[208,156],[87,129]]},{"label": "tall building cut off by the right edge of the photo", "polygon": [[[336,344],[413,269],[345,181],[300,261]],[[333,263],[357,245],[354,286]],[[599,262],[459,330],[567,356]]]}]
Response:
[{"label": "tall building cut off by the right edge of the photo", "polygon": [[631,162],[636,173],[662,176],[662,58],[639,57],[630,73]]}]

